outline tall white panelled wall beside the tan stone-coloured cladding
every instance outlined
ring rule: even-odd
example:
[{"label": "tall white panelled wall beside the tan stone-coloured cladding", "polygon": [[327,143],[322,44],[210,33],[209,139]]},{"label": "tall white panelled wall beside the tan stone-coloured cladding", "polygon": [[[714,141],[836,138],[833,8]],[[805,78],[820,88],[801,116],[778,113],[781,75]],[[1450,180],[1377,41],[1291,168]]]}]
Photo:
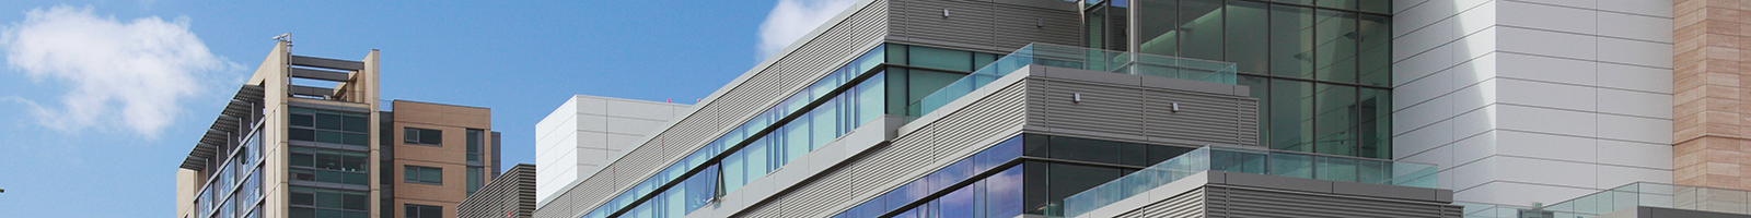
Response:
[{"label": "tall white panelled wall beside the tan stone-coloured cladding", "polygon": [[1670,0],[1394,0],[1394,155],[1464,202],[1672,181]]}]

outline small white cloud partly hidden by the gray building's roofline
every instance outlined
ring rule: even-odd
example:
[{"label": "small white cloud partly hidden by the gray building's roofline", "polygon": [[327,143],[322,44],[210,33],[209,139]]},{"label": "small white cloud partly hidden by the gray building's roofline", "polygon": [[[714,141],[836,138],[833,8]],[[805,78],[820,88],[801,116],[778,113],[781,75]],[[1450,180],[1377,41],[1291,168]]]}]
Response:
[{"label": "small white cloud partly hidden by the gray building's roofline", "polygon": [[760,23],[760,58],[783,51],[826,19],[849,9],[851,3],[856,0],[777,0],[777,5],[767,14],[767,21]]}]

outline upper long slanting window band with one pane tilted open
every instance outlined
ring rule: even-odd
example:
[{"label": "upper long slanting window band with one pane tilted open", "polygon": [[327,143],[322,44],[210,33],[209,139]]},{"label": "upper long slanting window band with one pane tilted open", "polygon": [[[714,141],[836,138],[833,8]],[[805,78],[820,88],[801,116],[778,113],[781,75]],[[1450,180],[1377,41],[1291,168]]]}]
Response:
[{"label": "upper long slanting window band with one pane tilted open", "polygon": [[998,54],[886,44],[797,91],[583,218],[679,218],[739,190],[905,103],[960,80]]}]

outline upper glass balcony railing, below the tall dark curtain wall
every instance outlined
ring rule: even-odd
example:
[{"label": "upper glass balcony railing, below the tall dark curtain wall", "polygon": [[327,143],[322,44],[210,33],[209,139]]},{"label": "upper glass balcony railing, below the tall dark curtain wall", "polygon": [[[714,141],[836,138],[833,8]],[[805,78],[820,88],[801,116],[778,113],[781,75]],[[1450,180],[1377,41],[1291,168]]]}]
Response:
[{"label": "upper glass balcony railing, below the tall dark curtain wall", "polygon": [[1119,51],[1101,51],[1089,47],[1070,47],[1070,45],[1051,45],[1051,44],[1030,44],[1014,52],[1009,52],[1002,59],[986,65],[974,73],[954,80],[953,84],[907,105],[905,112],[918,112],[918,115],[926,115],[949,101],[960,99],[986,84],[991,84],[1010,72],[1021,70],[1028,65],[1059,66],[1059,68],[1079,68],[1094,72],[1112,72],[1128,75],[1152,75],[1168,77],[1182,80],[1201,80],[1201,82],[1219,82],[1234,84],[1234,63],[1205,61],[1205,59],[1187,59],[1156,54],[1136,54],[1136,52],[1119,52]]}]

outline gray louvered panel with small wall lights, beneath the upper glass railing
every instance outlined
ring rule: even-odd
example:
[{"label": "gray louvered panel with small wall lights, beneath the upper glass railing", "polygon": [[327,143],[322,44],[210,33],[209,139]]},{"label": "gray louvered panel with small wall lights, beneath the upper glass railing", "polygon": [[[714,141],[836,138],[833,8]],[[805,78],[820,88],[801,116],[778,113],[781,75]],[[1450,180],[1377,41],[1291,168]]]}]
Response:
[{"label": "gray louvered panel with small wall lights, beneath the upper glass railing", "polygon": [[[1257,145],[1257,99],[1245,96],[1136,85],[1135,80],[1033,77],[1028,131],[1059,136],[1147,141],[1157,145]],[[1103,73],[1103,72],[1087,72]],[[1115,73],[1107,73],[1115,75]],[[1135,77],[1135,75],[1122,75]],[[1124,84],[1119,84],[1124,82]],[[1080,94],[1082,101],[1073,98]],[[1173,112],[1173,103],[1180,105]]]}]

